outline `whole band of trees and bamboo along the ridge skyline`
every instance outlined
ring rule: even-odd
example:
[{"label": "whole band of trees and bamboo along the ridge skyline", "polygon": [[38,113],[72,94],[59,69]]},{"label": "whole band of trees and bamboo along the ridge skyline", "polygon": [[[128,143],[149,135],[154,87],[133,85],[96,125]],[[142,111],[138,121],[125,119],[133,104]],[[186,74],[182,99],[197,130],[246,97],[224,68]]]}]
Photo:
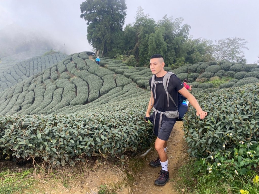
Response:
[{"label": "whole band of trees and bamboo along the ridge skyline", "polygon": [[[190,26],[183,18],[167,14],[158,21],[136,10],[135,22],[127,24],[125,0],[87,0],[81,6],[81,18],[87,21],[87,39],[96,55],[134,56],[138,66],[149,64],[150,56],[161,54],[166,66],[210,61],[246,63],[243,49],[247,41],[240,38],[222,40],[192,39]],[[97,52],[98,51],[98,52]]]}]

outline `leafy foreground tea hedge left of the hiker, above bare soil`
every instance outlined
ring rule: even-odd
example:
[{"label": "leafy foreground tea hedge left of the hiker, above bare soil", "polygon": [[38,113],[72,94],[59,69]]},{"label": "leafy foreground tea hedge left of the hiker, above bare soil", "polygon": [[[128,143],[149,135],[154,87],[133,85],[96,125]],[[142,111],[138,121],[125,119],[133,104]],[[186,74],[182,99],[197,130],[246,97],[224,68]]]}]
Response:
[{"label": "leafy foreground tea hedge left of the hiker, above bare soil", "polygon": [[[148,99],[148,98],[147,98]],[[134,103],[135,109],[129,104]],[[125,100],[94,114],[0,117],[0,154],[40,157],[53,167],[85,156],[122,157],[150,146],[152,127],[143,121],[147,100]],[[126,105],[126,103],[128,103]]]}]

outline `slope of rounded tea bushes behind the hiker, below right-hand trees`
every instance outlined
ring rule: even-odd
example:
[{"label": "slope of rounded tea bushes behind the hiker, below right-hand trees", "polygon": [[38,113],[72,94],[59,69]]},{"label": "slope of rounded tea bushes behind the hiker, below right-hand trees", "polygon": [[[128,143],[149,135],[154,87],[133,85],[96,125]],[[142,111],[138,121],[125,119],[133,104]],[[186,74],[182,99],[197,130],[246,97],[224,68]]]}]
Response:
[{"label": "slope of rounded tea bushes behind the hiker, below right-hand trees", "polygon": [[185,64],[172,70],[194,90],[208,88],[229,88],[256,83],[259,79],[257,64],[236,64],[232,62],[201,62]]}]

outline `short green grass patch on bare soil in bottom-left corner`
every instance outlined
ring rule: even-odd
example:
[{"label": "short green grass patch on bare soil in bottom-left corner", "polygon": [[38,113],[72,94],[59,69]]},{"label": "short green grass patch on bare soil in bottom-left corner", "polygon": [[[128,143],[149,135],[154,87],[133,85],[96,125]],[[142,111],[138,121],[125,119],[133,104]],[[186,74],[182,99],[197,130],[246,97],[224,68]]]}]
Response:
[{"label": "short green grass patch on bare soil in bottom-left corner", "polygon": [[33,170],[26,169],[21,172],[14,172],[9,169],[3,169],[0,173],[0,193],[22,193],[23,189],[30,188],[35,182],[35,179],[32,177]]}]

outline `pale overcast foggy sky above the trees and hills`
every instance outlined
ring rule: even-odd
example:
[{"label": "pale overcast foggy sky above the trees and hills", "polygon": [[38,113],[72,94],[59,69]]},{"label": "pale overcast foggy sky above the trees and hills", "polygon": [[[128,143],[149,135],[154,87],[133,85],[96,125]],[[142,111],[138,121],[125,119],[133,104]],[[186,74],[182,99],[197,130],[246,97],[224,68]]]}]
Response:
[{"label": "pale overcast foggy sky above the trees and hills", "polygon": [[[0,29],[17,24],[38,29],[65,43],[67,54],[90,51],[87,25],[80,18],[81,0],[0,0]],[[244,50],[247,63],[258,60],[259,1],[258,0],[126,0],[125,25],[135,21],[140,5],[150,18],[160,20],[165,14],[184,18],[191,26],[193,38],[210,40],[238,37],[249,43]],[[1,46],[1,45],[0,45]]]}]

